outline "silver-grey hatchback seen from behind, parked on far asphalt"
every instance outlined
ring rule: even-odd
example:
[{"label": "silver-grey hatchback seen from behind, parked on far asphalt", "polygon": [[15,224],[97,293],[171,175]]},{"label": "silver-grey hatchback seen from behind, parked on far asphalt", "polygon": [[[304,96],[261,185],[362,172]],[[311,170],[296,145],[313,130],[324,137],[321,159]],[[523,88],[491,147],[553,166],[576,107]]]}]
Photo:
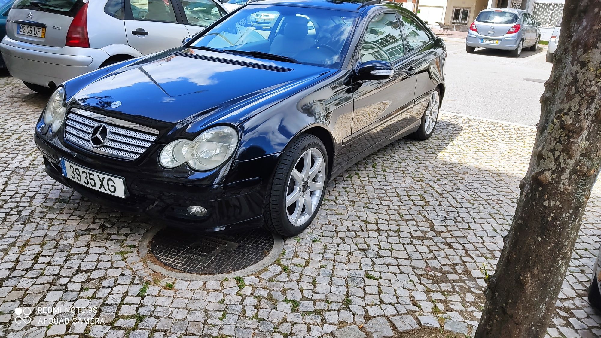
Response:
[{"label": "silver-grey hatchback seen from behind, parked on far asphalt", "polygon": [[528,11],[512,8],[490,8],[478,14],[469,26],[465,49],[505,49],[519,57],[523,48],[535,52],[540,41],[540,22],[535,22]]}]

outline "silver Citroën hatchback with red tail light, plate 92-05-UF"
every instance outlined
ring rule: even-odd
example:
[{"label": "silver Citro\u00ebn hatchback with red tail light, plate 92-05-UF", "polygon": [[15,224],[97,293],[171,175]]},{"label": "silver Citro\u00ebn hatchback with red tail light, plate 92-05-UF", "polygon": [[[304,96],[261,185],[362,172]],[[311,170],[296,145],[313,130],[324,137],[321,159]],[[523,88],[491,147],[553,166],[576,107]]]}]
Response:
[{"label": "silver Citro\u00ebn hatchback with red tail light, plate 92-05-UF", "polygon": [[0,51],[11,75],[51,93],[91,70],[180,46],[225,13],[214,0],[17,0]]}]

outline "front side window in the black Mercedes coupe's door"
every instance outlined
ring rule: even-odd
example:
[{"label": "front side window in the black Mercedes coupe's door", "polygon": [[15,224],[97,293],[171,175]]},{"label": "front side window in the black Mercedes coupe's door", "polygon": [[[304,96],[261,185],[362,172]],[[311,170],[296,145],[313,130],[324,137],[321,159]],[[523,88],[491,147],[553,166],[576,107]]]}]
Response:
[{"label": "front side window in the black Mercedes coupe's door", "polygon": [[361,62],[382,60],[394,62],[405,54],[401,29],[394,13],[379,14],[371,19],[361,44]]}]

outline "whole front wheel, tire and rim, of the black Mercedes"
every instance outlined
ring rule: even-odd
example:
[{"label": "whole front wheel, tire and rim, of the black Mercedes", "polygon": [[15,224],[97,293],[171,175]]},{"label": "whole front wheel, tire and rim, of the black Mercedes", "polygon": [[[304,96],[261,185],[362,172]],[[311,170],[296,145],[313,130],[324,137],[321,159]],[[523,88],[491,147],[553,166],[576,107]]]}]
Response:
[{"label": "whole front wheel, tire and rim, of the black Mercedes", "polygon": [[[307,153],[310,156],[310,161],[307,161],[309,167],[305,167]],[[292,140],[279,156],[265,201],[266,229],[285,237],[298,235],[307,229],[322,205],[329,176],[328,168],[328,152],[319,138],[303,134]],[[296,172],[296,179],[293,178],[293,172]],[[294,195],[296,197],[290,198]],[[313,209],[311,214],[307,212],[309,201]]]}]

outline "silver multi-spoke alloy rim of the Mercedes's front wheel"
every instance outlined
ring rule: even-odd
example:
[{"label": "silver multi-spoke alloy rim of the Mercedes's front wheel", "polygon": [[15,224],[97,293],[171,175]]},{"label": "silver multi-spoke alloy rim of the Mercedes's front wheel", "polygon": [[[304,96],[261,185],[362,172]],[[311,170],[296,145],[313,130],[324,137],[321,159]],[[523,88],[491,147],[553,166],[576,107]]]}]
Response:
[{"label": "silver multi-spoke alloy rim of the Mercedes's front wheel", "polygon": [[285,201],[288,220],[294,226],[302,226],[317,211],[325,184],[325,169],[323,153],[316,148],[305,151],[294,164]]}]

